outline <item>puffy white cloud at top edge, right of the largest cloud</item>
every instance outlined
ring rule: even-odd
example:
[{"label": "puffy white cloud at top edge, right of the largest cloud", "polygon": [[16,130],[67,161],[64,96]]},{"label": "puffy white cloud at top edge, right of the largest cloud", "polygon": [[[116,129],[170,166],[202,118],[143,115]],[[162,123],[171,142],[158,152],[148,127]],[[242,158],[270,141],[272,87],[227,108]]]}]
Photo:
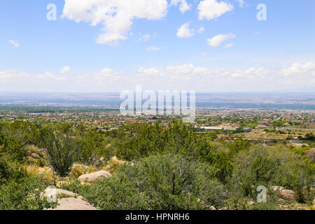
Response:
[{"label": "puffy white cloud at top edge, right of the largest cloud", "polygon": [[224,13],[228,13],[233,10],[233,6],[224,1],[216,0],[204,0],[200,1],[197,9],[199,11],[199,20],[213,20],[218,18]]}]

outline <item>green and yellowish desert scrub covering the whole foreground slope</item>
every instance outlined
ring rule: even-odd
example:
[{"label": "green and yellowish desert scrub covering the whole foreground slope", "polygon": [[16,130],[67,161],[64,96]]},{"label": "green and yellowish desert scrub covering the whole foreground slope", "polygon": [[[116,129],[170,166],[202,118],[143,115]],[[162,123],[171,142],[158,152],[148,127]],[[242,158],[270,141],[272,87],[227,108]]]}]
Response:
[{"label": "green and yellowish desert scrub covering the whole foreground slope", "polygon": [[[19,120],[0,126],[0,209],[55,208],[42,197],[48,186],[96,209],[314,209],[314,139],[224,141],[181,120],[107,132]],[[267,189],[265,203],[258,186]]]}]

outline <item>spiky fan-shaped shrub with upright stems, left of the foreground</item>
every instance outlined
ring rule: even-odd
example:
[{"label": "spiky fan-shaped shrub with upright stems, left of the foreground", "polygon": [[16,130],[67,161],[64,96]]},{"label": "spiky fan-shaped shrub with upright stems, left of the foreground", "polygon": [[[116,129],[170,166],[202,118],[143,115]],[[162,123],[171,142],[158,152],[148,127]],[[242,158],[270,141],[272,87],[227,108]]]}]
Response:
[{"label": "spiky fan-shaped shrub with upright stems, left of the foreground", "polygon": [[76,154],[80,150],[78,141],[67,134],[56,132],[46,132],[42,140],[52,169],[60,176],[69,174]]}]

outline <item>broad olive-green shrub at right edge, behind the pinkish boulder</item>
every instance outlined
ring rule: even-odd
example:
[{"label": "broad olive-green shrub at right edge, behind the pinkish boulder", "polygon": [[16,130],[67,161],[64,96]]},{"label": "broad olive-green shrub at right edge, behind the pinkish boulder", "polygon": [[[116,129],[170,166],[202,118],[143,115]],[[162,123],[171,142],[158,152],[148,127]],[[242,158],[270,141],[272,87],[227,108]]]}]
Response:
[{"label": "broad olive-green shrub at right edge, behind the pinkish boulder", "polygon": [[[260,146],[240,152],[234,159],[232,186],[242,195],[251,195],[251,186],[282,186],[297,193],[299,202],[311,200],[315,165],[286,146]],[[244,182],[245,181],[245,182]]]}]

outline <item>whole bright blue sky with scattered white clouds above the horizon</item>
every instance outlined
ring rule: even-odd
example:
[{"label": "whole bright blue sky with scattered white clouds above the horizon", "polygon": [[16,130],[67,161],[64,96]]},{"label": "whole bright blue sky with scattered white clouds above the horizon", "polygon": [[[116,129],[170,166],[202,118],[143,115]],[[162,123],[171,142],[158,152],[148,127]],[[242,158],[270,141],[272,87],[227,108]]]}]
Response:
[{"label": "whole bright blue sky with scattered white clouds above the horizon", "polygon": [[[129,2],[2,0],[0,91],[315,87],[313,0]],[[56,21],[46,19],[49,3]],[[266,21],[256,18],[259,3]]]}]

